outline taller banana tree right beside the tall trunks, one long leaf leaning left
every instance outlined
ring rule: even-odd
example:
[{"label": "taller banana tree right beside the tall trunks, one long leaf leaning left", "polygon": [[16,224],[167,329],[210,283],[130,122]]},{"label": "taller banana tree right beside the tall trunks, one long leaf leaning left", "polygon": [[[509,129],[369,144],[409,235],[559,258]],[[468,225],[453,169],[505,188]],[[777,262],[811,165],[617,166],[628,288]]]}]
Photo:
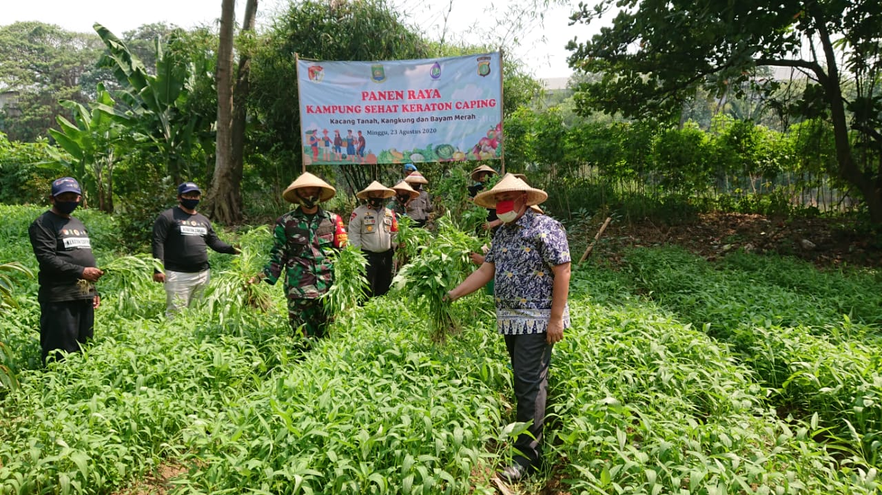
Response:
[{"label": "taller banana tree right beside the tall trunks, one long leaf leaning left", "polygon": [[101,24],[93,27],[108,48],[100,64],[113,70],[123,85],[118,96],[129,107],[132,130],[148,137],[165,161],[167,174],[176,182],[183,174],[190,176],[187,159],[200,137],[210,134],[213,115],[191,111],[187,99],[197,73],[205,73],[208,68],[195,67],[182,50],[166,50],[157,39],[156,70],[150,74],[116,35]]}]

